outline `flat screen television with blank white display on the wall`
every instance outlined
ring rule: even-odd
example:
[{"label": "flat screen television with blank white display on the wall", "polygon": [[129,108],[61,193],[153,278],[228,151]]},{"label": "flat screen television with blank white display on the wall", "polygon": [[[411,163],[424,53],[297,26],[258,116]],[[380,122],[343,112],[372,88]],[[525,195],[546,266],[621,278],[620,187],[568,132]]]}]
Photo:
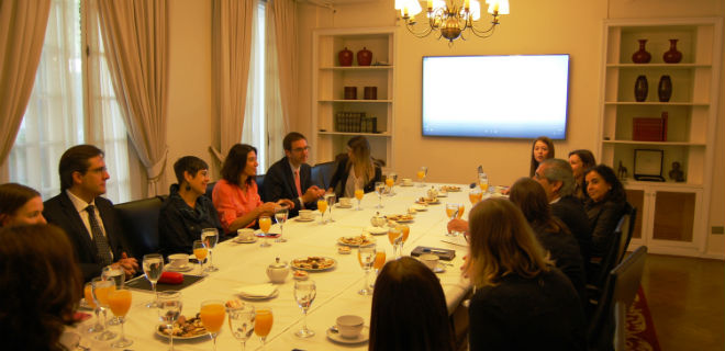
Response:
[{"label": "flat screen television with blank white display on the wall", "polygon": [[566,139],[569,55],[423,57],[423,136]]}]

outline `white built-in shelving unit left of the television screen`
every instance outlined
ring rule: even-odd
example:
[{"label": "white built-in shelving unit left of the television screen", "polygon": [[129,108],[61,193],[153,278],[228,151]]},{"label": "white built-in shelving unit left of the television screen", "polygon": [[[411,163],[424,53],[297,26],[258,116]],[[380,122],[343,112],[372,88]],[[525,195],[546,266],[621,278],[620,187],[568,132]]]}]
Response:
[{"label": "white built-in shelving unit left of the television screen", "polygon": [[[315,133],[315,162],[332,161],[346,151],[346,143],[356,135],[370,141],[372,157],[393,167],[393,105],[395,70],[395,30],[322,29],[312,41],[312,123]],[[372,53],[372,66],[358,66],[357,52]],[[353,52],[353,66],[339,66],[338,53]],[[377,64],[377,65],[376,65]],[[345,87],[357,87],[357,99],[345,99]],[[365,87],[377,88],[376,100],[364,100]],[[341,132],[335,118],[339,112],[362,112],[376,117],[375,133]]]}]

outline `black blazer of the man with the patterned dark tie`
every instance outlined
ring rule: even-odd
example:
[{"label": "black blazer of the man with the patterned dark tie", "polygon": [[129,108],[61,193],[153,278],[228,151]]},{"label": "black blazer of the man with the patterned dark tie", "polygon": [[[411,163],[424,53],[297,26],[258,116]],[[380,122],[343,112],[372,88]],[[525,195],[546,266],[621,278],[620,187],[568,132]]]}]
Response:
[{"label": "black blazer of the man with the patterned dark tie", "polygon": [[[127,246],[123,241],[123,230],[116,219],[113,203],[104,197],[96,197],[94,203],[101,215],[101,220],[103,220],[103,228],[105,228],[105,236],[113,251],[113,259],[118,261],[121,253],[127,252]],[[68,194],[62,191],[57,196],[44,202],[43,206],[45,219],[60,227],[68,235],[68,239],[76,251],[76,258],[80,263],[83,279],[90,281],[93,276],[99,276],[103,264],[98,260],[96,244],[91,240],[90,234]]]}]

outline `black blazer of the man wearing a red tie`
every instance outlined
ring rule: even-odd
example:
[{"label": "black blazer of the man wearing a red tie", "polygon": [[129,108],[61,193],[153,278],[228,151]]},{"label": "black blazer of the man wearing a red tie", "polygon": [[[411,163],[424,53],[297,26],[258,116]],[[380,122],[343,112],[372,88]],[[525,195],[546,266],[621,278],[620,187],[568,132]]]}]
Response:
[{"label": "black blazer of the man wearing a red tie", "polygon": [[[302,193],[313,185],[311,174],[312,168],[310,165],[302,163],[302,166],[300,166],[300,188],[302,189]],[[281,199],[289,199],[294,203],[294,208],[290,210],[290,217],[298,215],[301,207],[300,196],[297,194],[294,174],[292,174],[290,161],[287,160],[287,156],[275,162],[275,165],[267,170],[261,188],[265,201],[276,202]],[[304,208],[315,210],[317,208],[317,202],[309,202],[304,204]]]}]

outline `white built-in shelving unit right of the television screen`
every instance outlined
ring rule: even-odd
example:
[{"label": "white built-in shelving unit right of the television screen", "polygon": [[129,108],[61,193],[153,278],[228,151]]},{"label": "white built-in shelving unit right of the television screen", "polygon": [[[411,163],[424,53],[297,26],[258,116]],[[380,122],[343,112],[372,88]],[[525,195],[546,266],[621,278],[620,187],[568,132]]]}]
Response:
[{"label": "white built-in shelving unit right of the television screen", "polygon": [[[610,20],[603,31],[598,155],[615,170],[621,163],[629,171],[624,182],[627,200],[639,210],[632,244],[647,245],[655,253],[701,256],[710,213],[722,19]],[[679,39],[682,53],[678,64],[662,60],[672,38]],[[648,64],[632,63],[638,39],[647,39]],[[649,92],[644,102],[636,102],[634,84],[640,75],[647,78]],[[657,84],[663,75],[672,80],[669,102],[658,100]],[[662,112],[668,113],[667,140],[635,140],[633,118],[659,117]],[[663,151],[666,182],[632,178],[636,149]],[[684,182],[668,177],[676,161],[682,166]]]}]

